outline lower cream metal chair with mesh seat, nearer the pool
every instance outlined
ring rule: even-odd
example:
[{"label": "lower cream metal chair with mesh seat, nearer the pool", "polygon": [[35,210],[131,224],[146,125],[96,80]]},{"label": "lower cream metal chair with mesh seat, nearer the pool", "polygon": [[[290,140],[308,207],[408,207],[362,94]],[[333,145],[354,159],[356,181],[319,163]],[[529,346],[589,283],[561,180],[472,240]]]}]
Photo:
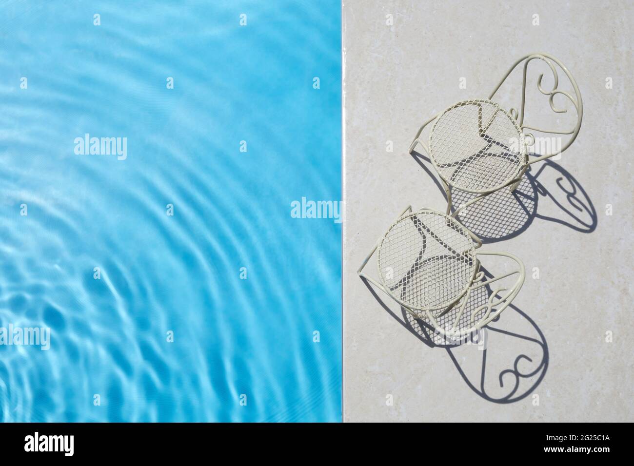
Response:
[{"label": "lower cream metal chair with mesh seat, nearer the pool", "polygon": [[[468,335],[499,316],[524,283],[520,259],[504,252],[475,252],[481,245],[477,236],[453,217],[431,209],[412,212],[408,206],[357,273],[444,336]],[[380,282],[363,273],[377,250]],[[517,269],[485,280],[478,256],[508,257]],[[517,277],[510,287],[496,289],[484,304],[465,313],[474,290],[514,275]]]}]

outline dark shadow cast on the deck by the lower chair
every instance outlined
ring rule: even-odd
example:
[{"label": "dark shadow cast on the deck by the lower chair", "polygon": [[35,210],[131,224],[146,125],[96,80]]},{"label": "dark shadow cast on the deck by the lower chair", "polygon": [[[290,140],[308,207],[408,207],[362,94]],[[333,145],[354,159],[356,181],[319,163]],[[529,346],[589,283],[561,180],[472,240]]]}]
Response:
[{"label": "dark shadow cast on the deck by the lower chair", "polygon": [[[493,276],[488,271],[486,271],[486,269],[482,268],[482,270],[484,271],[484,274],[487,278],[493,278]],[[390,314],[392,318],[394,318],[394,320],[398,321],[398,323],[403,325],[403,327],[406,328],[408,332],[410,332],[412,335],[415,335],[415,337],[417,337],[418,340],[420,340],[422,343],[424,343],[426,346],[430,348],[439,347],[444,349],[450,356],[451,361],[456,366],[456,370],[460,374],[460,377],[462,377],[462,379],[465,381],[465,384],[467,384],[467,386],[481,398],[486,399],[487,401],[491,401],[492,403],[500,403],[500,404],[515,403],[515,401],[519,401],[529,396],[529,394],[531,394],[534,391],[534,389],[541,383],[541,380],[543,380],[543,378],[545,377],[546,371],[548,368],[548,344],[546,342],[546,338],[541,332],[540,328],[537,326],[537,324],[529,316],[527,316],[527,314],[524,313],[521,309],[519,309],[517,306],[514,306],[514,304],[510,304],[510,306],[508,306],[508,309],[505,312],[508,313],[512,309],[512,311],[515,311],[519,316],[521,316],[521,318],[526,319],[528,323],[530,323],[533,326],[534,330],[539,336],[539,339],[528,337],[527,335],[521,335],[515,332],[510,332],[508,330],[504,330],[503,328],[498,328],[498,325],[499,325],[498,321],[500,321],[500,316],[498,316],[498,318],[493,320],[493,323],[496,323],[496,327],[493,327],[491,324],[489,324],[486,327],[484,327],[482,332],[479,332],[476,337],[476,339],[484,338],[485,340],[484,345],[482,345],[482,340],[474,341],[474,335],[470,335],[469,337],[469,340],[468,340],[469,344],[478,344],[479,346],[483,346],[481,348],[482,351],[478,351],[478,353],[481,353],[482,355],[480,379],[478,381],[472,382],[472,380],[470,380],[469,377],[466,375],[466,373],[462,370],[460,363],[458,363],[458,358],[456,358],[455,354],[453,354],[453,350],[456,347],[462,346],[462,344],[465,344],[465,342],[467,341],[447,342],[446,339],[442,335],[434,332],[434,327],[429,325],[429,323],[427,323],[424,320],[414,318],[413,316],[411,316],[410,313],[408,313],[404,309],[404,307],[401,307],[402,318],[399,317],[378,296],[377,292],[374,290],[370,282],[368,282],[363,277],[361,277],[361,280],[363,280],[363,283],[365,283],[366,287],[368,287],[368,290],[370,290],[370,293],[377,300],[377,302],[383,307],[383,309],[388,314]],[[488,298],[488,295],[492,293],[492,290],[489,287],[482,287],[480,288],[480,290],[481,290],[481,293],[475,293],[469,298],[469,302],[467,302],[467,311],[464,313],[465,316],[469,314],[469,309],[475,309],[477,306],[480,306],[482,302],[486,301],[486,299]],[[453,318],[451,313],[447,314],[447,316],[444,317],[443,322],[439,321],[439,324],[443,325],[444,321],[450,320],[451,318]],[[462,319],[464,319],[464,317]],[[529,361],[530,363],[533,363],[533,359],[529,358],[529,356],[527,356],[526,354],[520,353],[520,354],[517,354],[517,356],[515,357],[515,361],[512,368],[507,368],[505,370],[502,370],[498,374],[498,380],[500,382],[501,388],[505,388],[503,379],[506,375],[512,375],[514,377],[514,384],[509,385],[507,383],[506,387],[508,388],[508,392],[505,394],[505,396],[502,396],[499,398],[490,396],[486,392],[486,388],[485,388],[486,373],[487,373],[486,371],[487,354],[488,354],[488,351],[493,351],[493,349],[489,349],[488,347],[486,347],[486,339],[488,339],[488,336],[487,336],[488,332],[498,332],[498,333],[507,335],[509,337],[514,337],[514,338],[533,342],[534,344],[537,344],[541,348],[541,351],[542,351],[541,361],[536,365],[536,367],[532,371],[524,373],[521,370],[519,370],[518,366],[521,361]],[[482,335],[484,335],[484,337],[482,337]],[[518,392],[520,390],[520,384],[522,379],[529,379],[530,377],[536,376],[538,373],[540,373],[539,377],[537,377],[537,379],[533,382],[533,384],[531,384],[530,387],[526,389],[522,389],[520,392]]]}]

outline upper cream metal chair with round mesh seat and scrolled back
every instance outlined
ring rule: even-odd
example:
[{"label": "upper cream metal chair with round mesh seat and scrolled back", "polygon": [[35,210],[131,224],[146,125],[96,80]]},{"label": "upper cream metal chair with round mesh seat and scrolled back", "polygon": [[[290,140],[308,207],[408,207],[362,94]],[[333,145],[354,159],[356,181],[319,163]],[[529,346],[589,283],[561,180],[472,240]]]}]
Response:
[{"label": "upper cream metal chair with round mesh seat and scrolled back", "polygon": [[[567,112],[564,108],[555,107],[553,98],[558,94],[565,96],[573,103],[577,112],[577,122],[573,129],[569,131],[540,129],[524,124],[526,73],[528,64],[533,60],[544,61],[552,70],[553,88],[547,90],[541,86],[543,74],[540,74],[537,80],[537,87],[542,94],[548,96],[548,102],[553,112]],[[516,108],[510,108],[506,112],[492,99],[508,75],[522,62],[524,70],[521,108],[519,112]],[[564,71],[571,82],[574,96],[567,91],[558,89],[559,76],[555,65]],[[446,212],[448,215],[456,217],[460,210],[466,209],[469,205],[501,188],[509,186],[510,190],[514,190],[529,165],[564,152],[576,139],[579,128],[581,128],[582,117],[581,93],[573,75],[561,61],[552,55],[531,53],[515,61],[487,99],[465,100],[455,103],[424,122],[418,129],[408,152],[411,154],[417,145],[424,148],[443,182],[447,194]],[[425,143],[421,134],[430,123],[433,124],[429,131],[427,143]],[[536,139],[532,133],[524,134],[525,130],[560,135],[570,134],[571,137],[561,148],[556,148],[555,151],[547,150],[543,154],[537,154],[538,157],[529,158],[528,148],[534,145]],[[452,214],[450,187],[474,193],[477,196],[466,204],[460,205]]]}]

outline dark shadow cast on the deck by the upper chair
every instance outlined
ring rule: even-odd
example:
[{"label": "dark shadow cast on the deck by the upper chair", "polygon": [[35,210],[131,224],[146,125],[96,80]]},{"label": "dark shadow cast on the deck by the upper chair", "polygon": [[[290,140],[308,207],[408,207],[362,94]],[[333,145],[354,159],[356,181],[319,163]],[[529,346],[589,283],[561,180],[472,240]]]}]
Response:
[{"label": "dark shadow cast on the deck by the upper chair", "polygon": [[[418,152],[412,152],[411,156],[434,181],[446,200],[447,195],[443,185],[430,169],[432,165],[429,158]],[[569,172],[548,159],[543,161],[543,165],[537,172],[533,173],[531,168],[529,167],[529,171],[524,174],[515,191],[511,192],[507,188],[502,188],[488,195],[468,207],[467,212],[463,210],[458,215],[460,222],[479,236],[484,243],[500,242],[521,235],[536,218],[559,223],[581,233],[592,233],[597,228],[597,211],[592,200]],[[548,181],[540,179],[540,177],[547,178],[549,171],[552,171],[550,174],[556,177],[556,186],[550,186]],[[451,188],[452,211],[476,196]],[[566,200],[562,202],[561,197],[565,197]],[[540,214],[538,212],[540,198],[550,199],[562,212],[563,218]]]}]

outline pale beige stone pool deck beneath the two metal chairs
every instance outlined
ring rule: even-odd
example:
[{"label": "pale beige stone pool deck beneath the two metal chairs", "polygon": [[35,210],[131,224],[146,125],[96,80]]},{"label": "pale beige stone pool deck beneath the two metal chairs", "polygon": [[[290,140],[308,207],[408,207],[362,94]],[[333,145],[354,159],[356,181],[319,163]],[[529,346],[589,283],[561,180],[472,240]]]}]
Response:
[{"label": "pale beige stone pool deck beneath the two metal chairs", "polygon": [[[614,1],[475,9],[344,0],[344,421],[634,420],[633,13],[631,2]],[[432,165],[407,153],[418,126],[457,101],[486,98],[515,60],[538,51],[576,78],[581,131],[559,160],[532,165],[522,204],[501,196],[503,215],[474,220],[498,239],[482,250],[526,264],[524,287],[491,325],[486,351],[437,346],[356,269],[406,205],[446,206]],[[544,68],[531,67],[527,121],[574,126],[574,115],[551,112],[535,85]],[[502,94],[511,96],[517,91]],[[374,259],[367,271],[376,277]]]}]

